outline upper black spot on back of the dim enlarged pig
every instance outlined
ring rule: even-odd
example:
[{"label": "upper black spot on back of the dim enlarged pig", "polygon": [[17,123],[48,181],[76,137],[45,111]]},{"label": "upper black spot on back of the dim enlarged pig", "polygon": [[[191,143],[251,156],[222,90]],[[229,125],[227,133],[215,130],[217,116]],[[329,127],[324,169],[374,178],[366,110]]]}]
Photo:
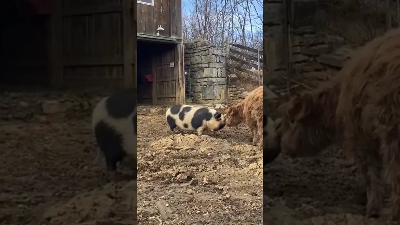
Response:
[{"label": "upper black spot on back of the dim enlarged pig", "polygon": [[136,107],[136,90],[126,89],[111,95],[106,100],[108,115],[114,119],[128,117]]}]

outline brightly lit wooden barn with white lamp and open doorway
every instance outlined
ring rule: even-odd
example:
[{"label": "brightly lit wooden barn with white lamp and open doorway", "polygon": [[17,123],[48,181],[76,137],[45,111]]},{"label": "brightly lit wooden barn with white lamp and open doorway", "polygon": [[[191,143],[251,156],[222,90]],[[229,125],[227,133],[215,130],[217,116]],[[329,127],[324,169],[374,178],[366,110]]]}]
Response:
[{"label": "brightly lit wooden barn with white lamp and open doorway", "polygon": [[138,102],[184,104],[181,0],[137,0]]}]

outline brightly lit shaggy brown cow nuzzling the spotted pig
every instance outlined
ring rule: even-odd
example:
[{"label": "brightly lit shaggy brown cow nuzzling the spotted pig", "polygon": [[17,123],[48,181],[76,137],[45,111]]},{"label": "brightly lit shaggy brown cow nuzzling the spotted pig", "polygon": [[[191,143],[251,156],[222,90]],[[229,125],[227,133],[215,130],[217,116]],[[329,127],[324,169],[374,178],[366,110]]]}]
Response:
[{"label": "brightly lit shaggy brown cow nuzzling the spotted pig", "polygon": [[252,90],[246,98],[225,110],[226,125],[236,127],[244,122],[252,133],[253,145],[262,144],[263,86]]}]

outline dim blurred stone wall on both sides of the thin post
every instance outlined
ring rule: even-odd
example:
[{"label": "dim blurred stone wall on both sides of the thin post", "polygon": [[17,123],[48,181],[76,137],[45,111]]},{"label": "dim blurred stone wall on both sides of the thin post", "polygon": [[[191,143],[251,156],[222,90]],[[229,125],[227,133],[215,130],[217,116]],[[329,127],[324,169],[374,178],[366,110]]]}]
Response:
[{"label": "dim blurred stone wall on both sides of the thin post", "polygon": [[[285,75],[296,80],[328,79],[350,57],[351,48],[343,46],[342,38],[317,30],[316,0],[292,0],[289,10],[283,3],[275,0],[264,6],[264,83]],[[286,26],[286,10],[290,30]]]}]

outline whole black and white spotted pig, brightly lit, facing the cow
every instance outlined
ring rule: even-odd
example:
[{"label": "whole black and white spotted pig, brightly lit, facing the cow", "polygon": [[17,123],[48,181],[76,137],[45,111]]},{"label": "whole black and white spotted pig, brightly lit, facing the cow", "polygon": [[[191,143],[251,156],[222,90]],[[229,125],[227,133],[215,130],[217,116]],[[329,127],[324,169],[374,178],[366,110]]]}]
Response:
[{"label": "whole black and white spotted pig, brightly lit, facing the cow", "polygon": [[224,115],[212,108],[176,105],[168,108],[165,116],[171,131],[175,128],[197,131],[201,136],[204,131],[219,131],[225,127]]}]

